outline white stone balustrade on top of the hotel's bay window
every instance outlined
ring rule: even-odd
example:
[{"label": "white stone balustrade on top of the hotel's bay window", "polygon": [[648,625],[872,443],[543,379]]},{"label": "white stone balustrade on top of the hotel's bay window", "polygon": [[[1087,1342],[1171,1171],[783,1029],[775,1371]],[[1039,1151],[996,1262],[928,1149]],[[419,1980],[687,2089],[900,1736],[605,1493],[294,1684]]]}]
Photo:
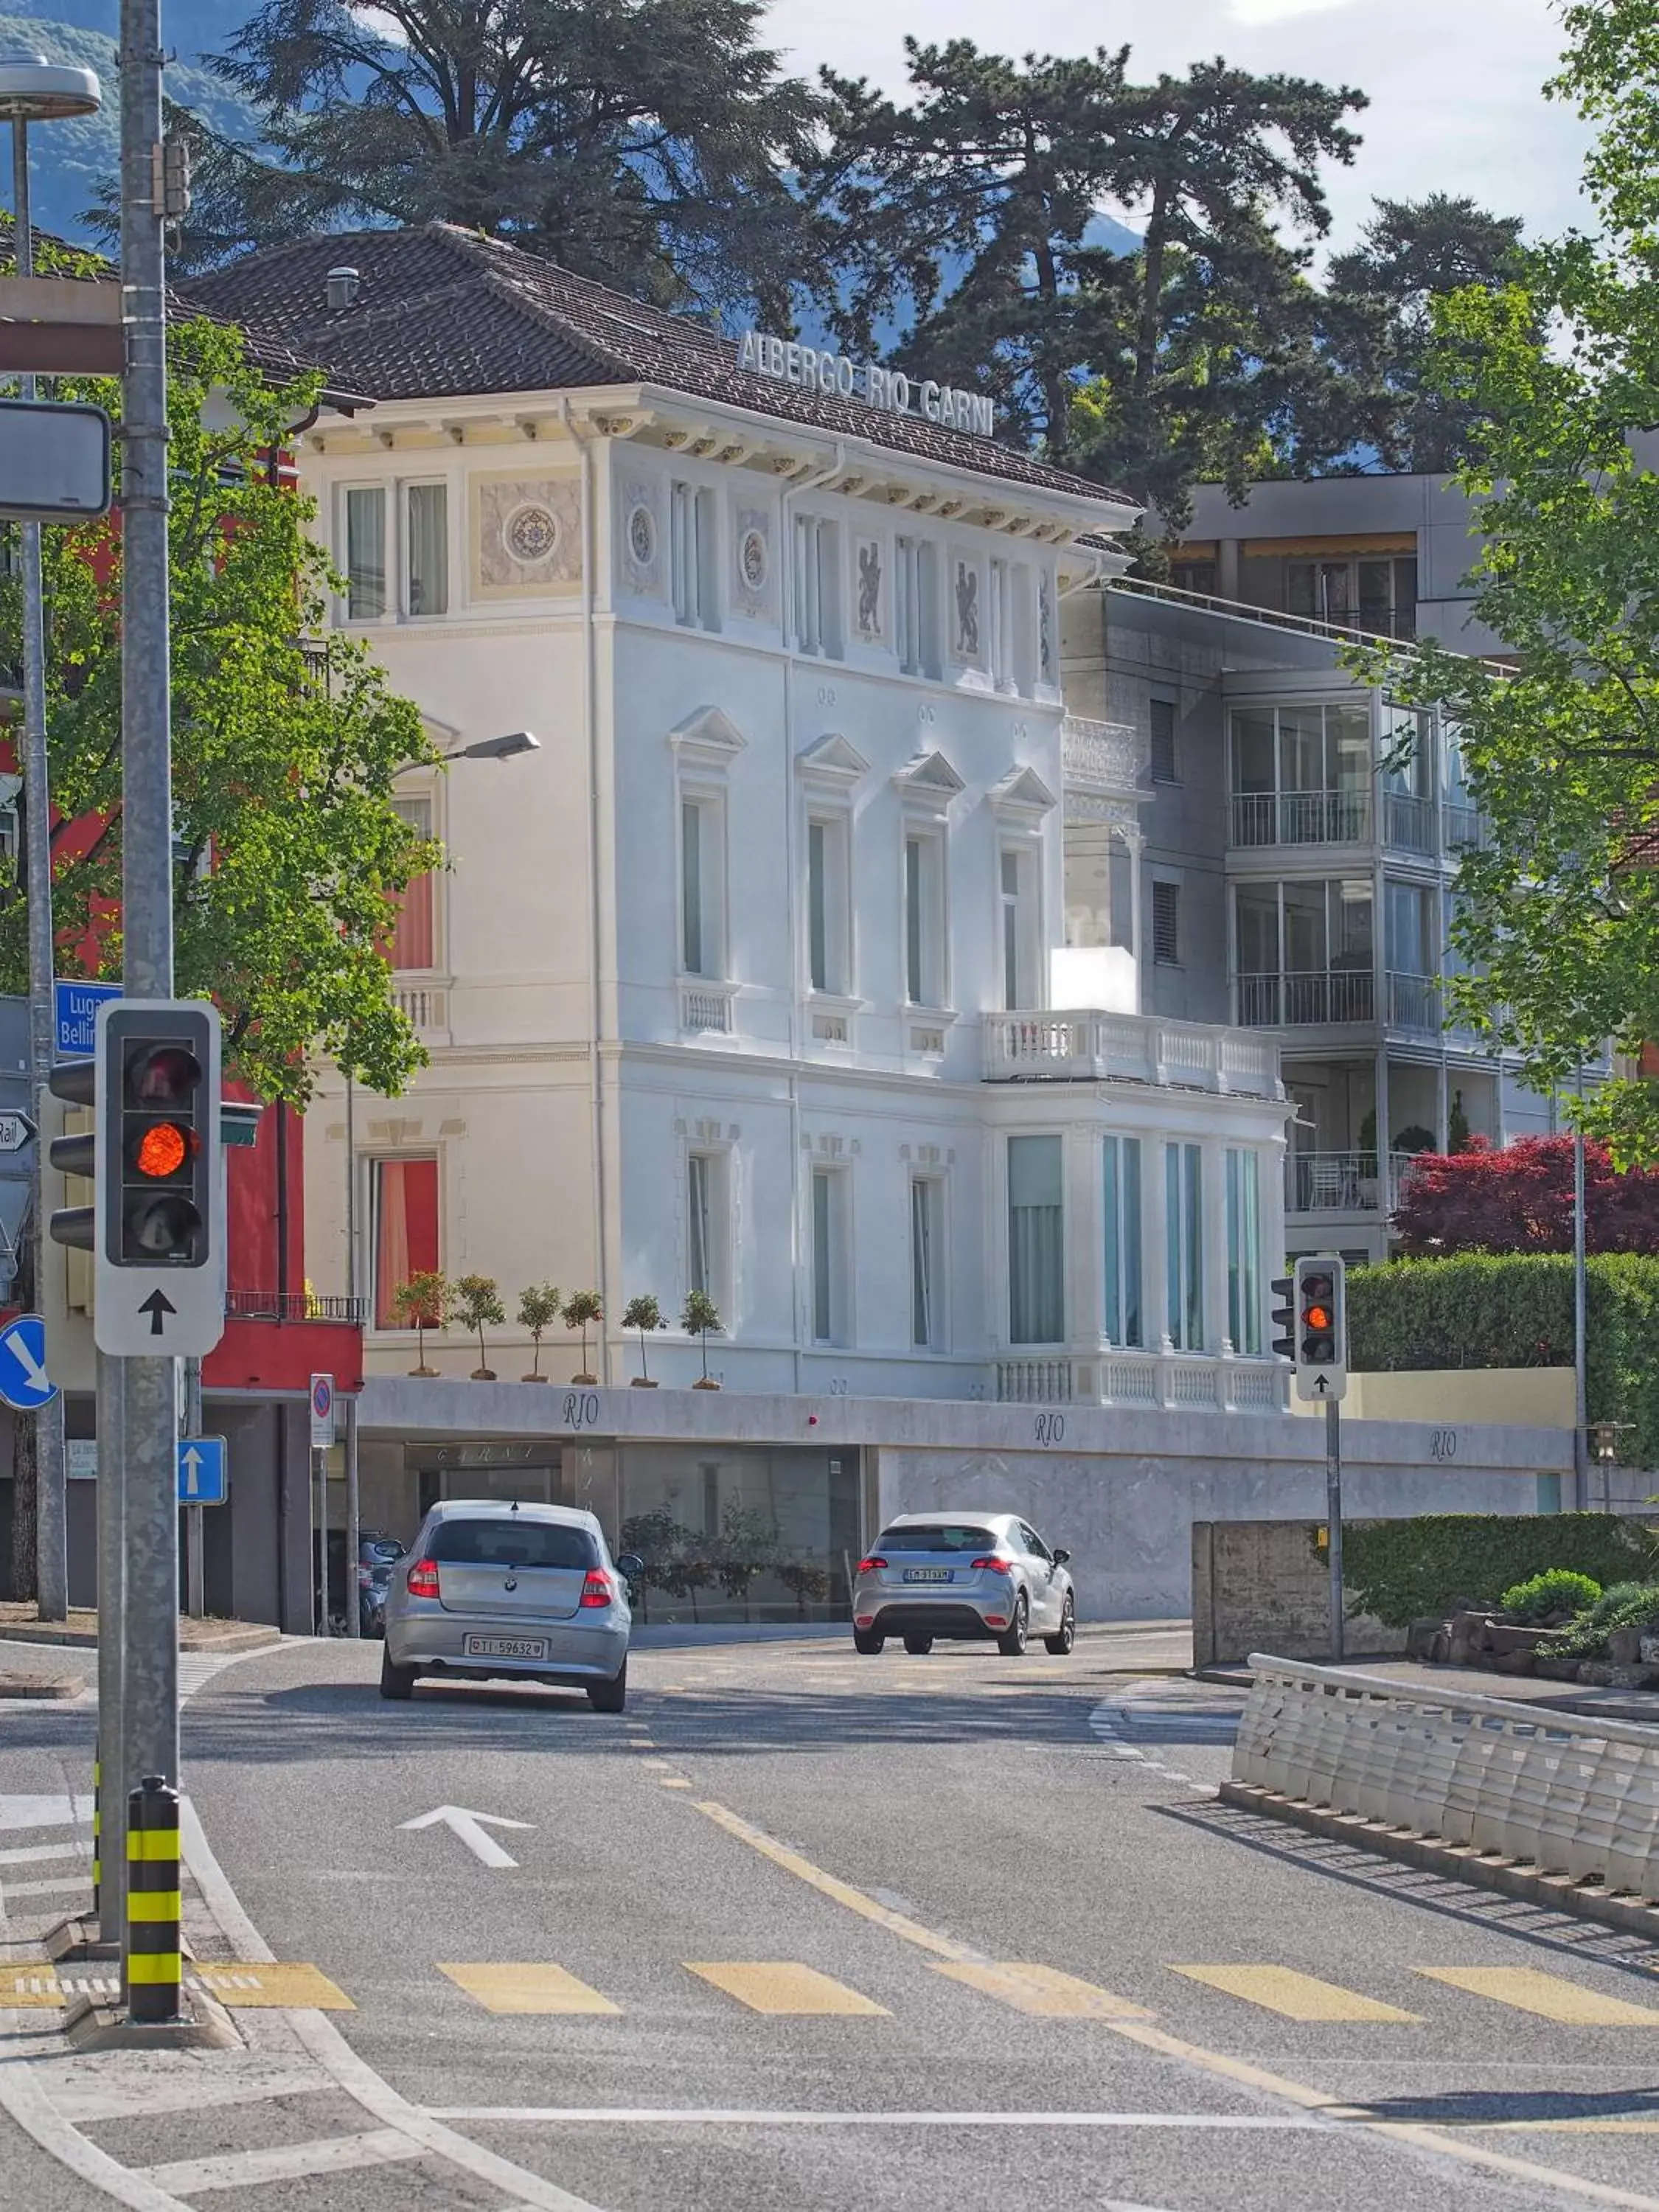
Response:
[{"label": "white stone balustrade on top of the hotel's bay window", "polygon": [[1281,1097],[1279,1051],[1256,1037],[1146,1013],[987,1013],[984,1079],[1106,1082]]}]

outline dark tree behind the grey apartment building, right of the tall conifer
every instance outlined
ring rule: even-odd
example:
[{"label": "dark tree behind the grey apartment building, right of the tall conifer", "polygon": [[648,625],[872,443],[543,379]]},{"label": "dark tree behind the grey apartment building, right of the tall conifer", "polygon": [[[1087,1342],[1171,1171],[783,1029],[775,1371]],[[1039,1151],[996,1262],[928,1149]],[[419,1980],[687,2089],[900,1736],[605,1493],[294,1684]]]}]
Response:
[{"label": "dark tree behind the grey apartment building, right of the tall conifer", "polygon": [[[1323,442],[1340,465],[1343,440],[1369,445],[1389,469],[1440,473],[1471,458],[1473,403],[1431,376],[1436,303],[1469,285],[1498,290],[1520,274],[1520,217],[1429,192],[1378,199],[1358,246],[1325,272],[1321,332],[1343,376]],[[1303,422],[1303,436],[1312,425]]]}]

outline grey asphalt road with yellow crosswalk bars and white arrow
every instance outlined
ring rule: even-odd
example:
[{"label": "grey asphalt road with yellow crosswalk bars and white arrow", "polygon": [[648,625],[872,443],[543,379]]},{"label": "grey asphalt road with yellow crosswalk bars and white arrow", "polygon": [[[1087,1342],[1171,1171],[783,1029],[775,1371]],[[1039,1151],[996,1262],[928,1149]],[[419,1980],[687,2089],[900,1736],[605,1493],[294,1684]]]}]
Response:
[{"label": "grey asphalt road with yellow crosswalk bars and white arrow", "polygon": [[[349,2053],[599,2212],[1659,2208],[1652,1949],[1217,1805],[1239,1699],[1159,1650],[639,1650],[602,1719],[299,1644],[190,1701],[188,1787]],[[95,2141],[237,2212],[529,2201],[372,2148],[219,2188],[175,2161],[349,2119],[215,2097]]]}]

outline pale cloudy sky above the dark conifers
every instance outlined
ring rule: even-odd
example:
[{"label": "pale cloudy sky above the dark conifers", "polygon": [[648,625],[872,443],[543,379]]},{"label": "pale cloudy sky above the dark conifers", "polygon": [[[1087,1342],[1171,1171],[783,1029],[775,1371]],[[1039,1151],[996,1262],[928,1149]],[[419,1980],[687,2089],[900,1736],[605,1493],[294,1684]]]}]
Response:
[{"label": "pale cloudy sky above the dark conifers", "polygon": [[1544,100],[1562,49],[1551,0],[774,0],[765,35],[801,71],[830,62],[905,88],[902,35],[969,38],[991,53],[1086,53],[1130,44],[1130,69],[1183,71],[1225,55],[1243,69],[1352,84],[1371,106],[1352,168],[1327,166],[1332,246],[1347,246],[1371,197],[1467,192],[1520,215],[1528,237],[1584,221],[1584,128]]}]

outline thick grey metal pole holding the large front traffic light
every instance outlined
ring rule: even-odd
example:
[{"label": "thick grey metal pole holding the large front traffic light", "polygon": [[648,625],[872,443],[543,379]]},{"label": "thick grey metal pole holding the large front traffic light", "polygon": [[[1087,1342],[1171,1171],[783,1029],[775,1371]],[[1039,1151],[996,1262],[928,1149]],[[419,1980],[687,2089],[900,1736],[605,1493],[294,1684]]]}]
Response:
[{"label": "thick grey metal pole holding the large front traffic light", "polygon": [[[159,0],[122,0],[122,925],[128,998],[173,998],[166,184]],[[124,1358],[126,1774],[179,1781],[173,1358]]]}]

